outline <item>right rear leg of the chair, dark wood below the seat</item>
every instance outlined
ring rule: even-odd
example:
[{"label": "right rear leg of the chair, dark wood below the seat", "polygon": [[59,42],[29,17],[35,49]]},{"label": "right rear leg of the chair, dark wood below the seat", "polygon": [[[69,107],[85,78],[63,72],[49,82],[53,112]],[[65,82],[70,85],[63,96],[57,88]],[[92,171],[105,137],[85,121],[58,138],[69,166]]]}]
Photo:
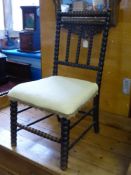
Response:
[{"label": "right rear leg of the chair, dark wood below the seat", "polygon": [[93,111],[93,122],[94,132],[99,133],[99,95],[94,98],[94,111]]}]

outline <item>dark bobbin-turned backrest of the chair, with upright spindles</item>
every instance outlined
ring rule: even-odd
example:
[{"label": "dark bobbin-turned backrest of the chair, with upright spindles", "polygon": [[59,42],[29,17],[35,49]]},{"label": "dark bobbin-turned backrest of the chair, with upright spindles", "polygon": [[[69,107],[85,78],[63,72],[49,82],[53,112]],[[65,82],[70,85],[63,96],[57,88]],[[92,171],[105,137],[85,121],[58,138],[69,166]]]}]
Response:
[{"label": "dark bobbin-turned backrest of the chair, with upright spindles", "polygon": [[[108,31],[110,24],[110,11],[103,12],[57,12],[56,20],[56,38],[54,49],[54,67],[53,75],[58,74],[58,65],[78,67],[82,69],[89,69],[97,71],[96,83],[100,86],[102,79],[102,71],[104,65],[104,58],[106,52]],[[66,28],[66,49],[64,60],[59,58],[60,36],[61,29]],[[71,37],[77,36],[77,46],[74,61],[69,59],[71,52]],[[92,65],[92,50],[94,47],[93,40],[97,35],[101,35],[100,51],[98,55],[98,62],[96,65]],[[86,61],[80,63],[80,53],[82,49],[82,40],[88,40]],[[95,48],[97,50],[98,48]]]}]

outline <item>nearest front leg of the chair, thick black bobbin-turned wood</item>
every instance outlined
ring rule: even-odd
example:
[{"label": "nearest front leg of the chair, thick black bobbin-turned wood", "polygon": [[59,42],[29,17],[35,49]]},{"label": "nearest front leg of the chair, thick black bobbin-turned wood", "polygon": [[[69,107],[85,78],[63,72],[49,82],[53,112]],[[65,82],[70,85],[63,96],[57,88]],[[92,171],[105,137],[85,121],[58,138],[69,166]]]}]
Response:
[{"label": "nearest front leg of the chair, thick black bobbin-turned wood", "polygon": [[70,136],[70,121],[61,118],[61,160],[60,167],[66,170],[68,167],[68,152],[69,152],[69,136]]}]

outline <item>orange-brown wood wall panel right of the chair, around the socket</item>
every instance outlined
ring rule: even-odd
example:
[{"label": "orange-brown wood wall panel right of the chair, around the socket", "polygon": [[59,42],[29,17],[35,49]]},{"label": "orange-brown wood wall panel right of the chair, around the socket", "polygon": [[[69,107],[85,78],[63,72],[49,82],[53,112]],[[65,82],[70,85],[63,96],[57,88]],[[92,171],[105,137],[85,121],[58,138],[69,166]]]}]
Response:
[{"label": "orange-brown wood wall panel right of the chair, around the socket", "polygon": [[122,93],[122,81],[131,78],[131,2],[120,9],[119,23],[111,28],[104,68],[101,104],[105,111],[128,116],[129,95]]}]

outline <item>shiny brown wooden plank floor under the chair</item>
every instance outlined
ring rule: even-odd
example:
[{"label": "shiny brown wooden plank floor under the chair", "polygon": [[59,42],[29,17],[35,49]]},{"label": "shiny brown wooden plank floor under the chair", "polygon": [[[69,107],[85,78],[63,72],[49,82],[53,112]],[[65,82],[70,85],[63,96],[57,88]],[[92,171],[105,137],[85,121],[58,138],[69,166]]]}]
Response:
[{"label": "shiny brown wooden plank floor under the chair", "polygon": [[[20,108],[23,108],[23,105]],[[43,115],[38,109],[30,109],[19,114],[19,121],[28,123]],[[131,119],[125,120],[124,117],[116,117],[104,112],[101,113],[100,119],[100,134],[94,134],[93,130],[89,131],[70,150],[69,168],[63,172],[59,168],[60,146],[57,143],[20,131],[17,148],[11,148],[9,108],[2,109],[0,111],[0,167],[8,168],[11,173],[19,175],[126,175],[131,161]],[[86,124],[83,122],[74,129],[71,138],[74,138]],[[59,123],[55,117],[38,123],[35,127],[54,135],[59,133]],[[24,162],[32,166],[24,168]]]}]

